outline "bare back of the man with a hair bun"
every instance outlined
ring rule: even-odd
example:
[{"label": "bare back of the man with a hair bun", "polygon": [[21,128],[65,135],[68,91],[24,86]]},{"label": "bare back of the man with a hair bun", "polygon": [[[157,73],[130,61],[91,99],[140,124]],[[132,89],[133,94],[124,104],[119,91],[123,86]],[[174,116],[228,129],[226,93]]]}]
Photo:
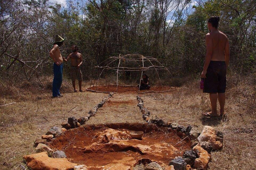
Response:
[{"label": "bare back of the man with a hair bun", "polygon": [[219,30],[214,30],[208,33],[212,40],[212,61],[225,61],[225,47],[228,43],[228,37]]}]

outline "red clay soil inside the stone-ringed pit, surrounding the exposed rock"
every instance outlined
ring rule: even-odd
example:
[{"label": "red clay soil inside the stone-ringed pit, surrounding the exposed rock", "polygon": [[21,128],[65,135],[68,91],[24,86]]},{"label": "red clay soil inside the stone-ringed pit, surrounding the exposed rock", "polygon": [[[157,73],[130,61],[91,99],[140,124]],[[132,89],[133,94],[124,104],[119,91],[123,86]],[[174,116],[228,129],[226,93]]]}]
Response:
[{"label": "red clay soil inside the stone-ringed pit, surrounding the exposed rock", "polygon": [[[153,144],[153,143],[168,143],[175,145],[182,140],[176,131],[170,130],[165,127],[156,127],[154,124],[130,124],[130,123],[120,123],[120,124],[106,124],[106,125],[84,125],[83,127],[75,128],[66,131],[62,135],[57,136],[51,143],[48,144],[49,147],[56,150],[64,151],[69,159],[69,161],[86,166],[106,166],[112,163],[112,161],[117,159],[123,159],[126,157],[133,157],[137,163],[141,160],[156,160],[161,161],[165,164],[175,158],[176,156],[182,156],[184,151],[190,150],[191,141],[190,139],[185,139],[181,143],[175,145],[174,147],[179,151],[172,154],[166,155],[164,157],[159,157],[152,154],[142,154],[133,149],[126,149],[123,151],[103,151],[102,153],[85,153],[83,148],[94,143],[92,141],[93,137],[98,132],[103,132],[108,128],[113,128],[120,131],[144,131],[143,139],[140,144]],[[136,165],[136,163],[135,163]],[[135,166],[134,165],[134,166]],[[100,169],[100,168],[90,168],[90,170]]]}]

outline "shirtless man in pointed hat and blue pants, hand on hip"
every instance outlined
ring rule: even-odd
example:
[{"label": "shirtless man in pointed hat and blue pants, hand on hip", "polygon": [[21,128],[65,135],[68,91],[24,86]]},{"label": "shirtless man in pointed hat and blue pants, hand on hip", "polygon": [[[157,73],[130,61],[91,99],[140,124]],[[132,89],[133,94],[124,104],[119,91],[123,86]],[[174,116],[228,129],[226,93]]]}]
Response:
[{"label": "shirtless man in pointed hat and blue pants, hand on hip", "polygon": [[55,42],[52,50],[50,51],[50,56],[54,61],[53,64],[53,74],[54,78],[52,81],[52,97],[63,97],[60,94],[60,86],[62,83],[62,71],[63,71],[63,58],[60,54],[60,46],[63,44],[64,39],[56,35]]}]

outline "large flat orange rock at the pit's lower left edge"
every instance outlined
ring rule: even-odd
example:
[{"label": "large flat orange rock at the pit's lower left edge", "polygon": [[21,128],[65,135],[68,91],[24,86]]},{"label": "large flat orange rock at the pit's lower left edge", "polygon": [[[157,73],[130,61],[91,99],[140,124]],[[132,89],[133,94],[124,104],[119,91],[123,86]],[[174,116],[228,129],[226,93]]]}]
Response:
[{"label": "large flat orange rock at the pit's lower left edge", "polygon": [[67,158],[50,158],[47,152],[25,155],[27,166],[31,169],[47,170],[73,170],[77,164],[71,163]]}]

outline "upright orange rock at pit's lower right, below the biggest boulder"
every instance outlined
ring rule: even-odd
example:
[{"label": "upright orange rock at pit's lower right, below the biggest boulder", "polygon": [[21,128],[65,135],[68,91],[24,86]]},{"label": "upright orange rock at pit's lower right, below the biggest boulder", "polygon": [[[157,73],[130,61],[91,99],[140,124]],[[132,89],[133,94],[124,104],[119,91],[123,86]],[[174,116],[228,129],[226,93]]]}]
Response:
[{"label": "upright orange rock at pit's lower right, below the biggest boulder", "polygon": [[196,169],[207,169],[208,164],[211,160],[211,155],[205,151],[200,144],[197,144],[194,146],[193,151],[197,153],[199,158],[196,158],[195,160],[195,168]]}]

